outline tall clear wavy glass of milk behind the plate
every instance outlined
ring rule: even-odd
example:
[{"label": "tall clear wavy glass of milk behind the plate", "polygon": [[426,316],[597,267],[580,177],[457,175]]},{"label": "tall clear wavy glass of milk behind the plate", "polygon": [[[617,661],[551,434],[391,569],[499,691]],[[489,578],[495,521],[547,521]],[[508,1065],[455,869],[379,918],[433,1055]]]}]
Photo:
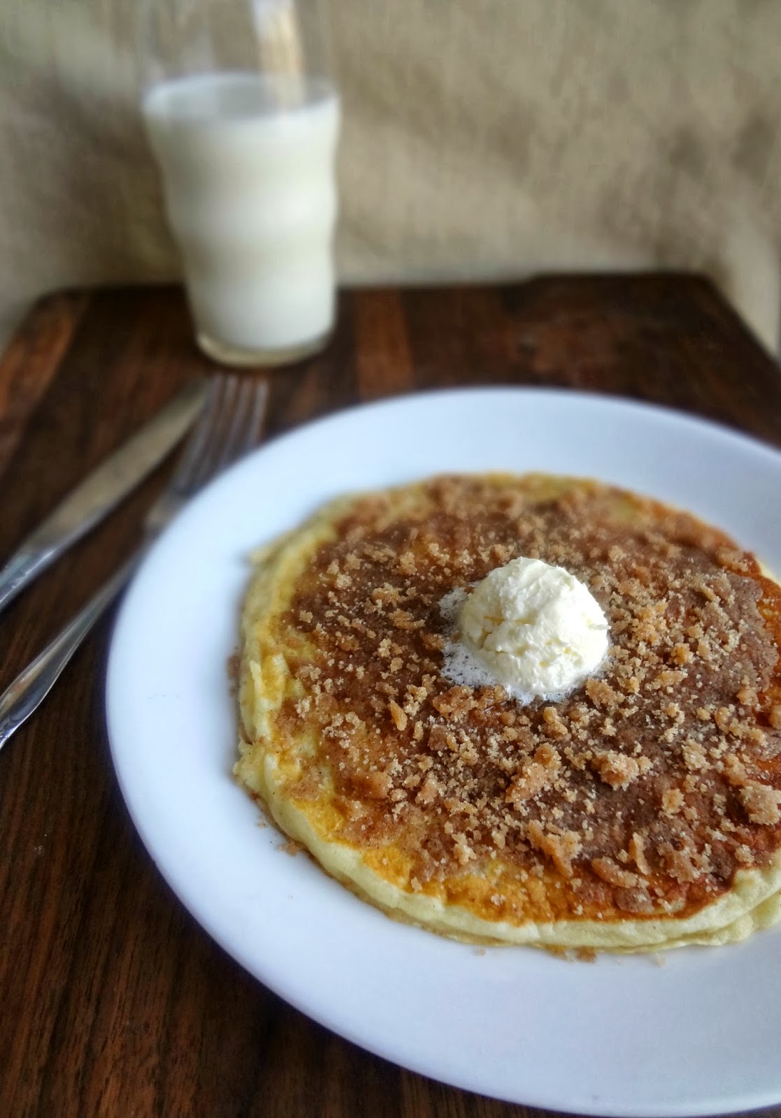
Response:
[{"label": "tall clear wavy glass of milk behind the plate", "polygon": [[200,348],[283,364],[333,326],[339,97],[322,0],[149,0],[143,117]]}]

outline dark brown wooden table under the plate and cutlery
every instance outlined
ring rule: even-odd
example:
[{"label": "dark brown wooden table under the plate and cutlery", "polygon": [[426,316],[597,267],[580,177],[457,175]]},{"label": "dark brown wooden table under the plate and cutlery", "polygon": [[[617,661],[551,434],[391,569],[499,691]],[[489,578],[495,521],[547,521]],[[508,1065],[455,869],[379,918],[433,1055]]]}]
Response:
[{"label": "dark brown wooden table under the plate and cutlery", "polygon": [[[0,557],[207,369],[178,291],[41,302],[0,361]],[[267,437],[356,400],[526,383],[659,401],[781,444],[781,370],[690,276],[347,294],[330,349],[271,383]],[[168,470],[0,618],[0,689],[131,550]],[[543,1114],[368,1055],[209,940],[114,779],[110,632],[109,618],[0,754],[0,1118]]]}]

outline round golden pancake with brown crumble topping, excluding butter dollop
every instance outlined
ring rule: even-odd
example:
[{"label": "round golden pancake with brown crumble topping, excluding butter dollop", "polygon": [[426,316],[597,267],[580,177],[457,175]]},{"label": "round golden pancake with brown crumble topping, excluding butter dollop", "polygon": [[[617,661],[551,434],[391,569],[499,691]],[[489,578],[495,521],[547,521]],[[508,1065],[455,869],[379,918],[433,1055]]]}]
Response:
[{"label": "round golden pancake with brown crumble topping, excluding butter dollop", "polygon": [[[556,702],[446,675],[440,603],[519,556],[610,623]],[[242,628],[237,778],[389,915],[605,950],[781,919],[781,588],[719,530],[592,481],[431,479],[264,549]]]}]

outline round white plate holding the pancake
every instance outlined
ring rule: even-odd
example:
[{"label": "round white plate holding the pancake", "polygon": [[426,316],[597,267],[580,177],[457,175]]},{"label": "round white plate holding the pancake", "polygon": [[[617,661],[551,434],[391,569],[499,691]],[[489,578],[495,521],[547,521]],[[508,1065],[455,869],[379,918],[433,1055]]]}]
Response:
[{"label": "round white plate holding the pancake", "polygon": [[781,929],[721,949],[567,963],[395,923],[303,855],[233,783],[247,552],[336,494],[441,471],[544,470],[688,508],[781,571],[781,455],[660,408],[478,389],[335,415],[210,485],[125,597],[107,718],[122,792],[186,907],[252,974],[396,1063],[516,1102],[699,1115],[781,1100]]}]

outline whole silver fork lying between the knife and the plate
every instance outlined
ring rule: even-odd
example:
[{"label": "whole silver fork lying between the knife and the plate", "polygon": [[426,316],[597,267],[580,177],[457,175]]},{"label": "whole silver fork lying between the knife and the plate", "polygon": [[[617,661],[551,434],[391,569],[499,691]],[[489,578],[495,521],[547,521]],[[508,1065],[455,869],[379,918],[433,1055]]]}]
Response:
[{"label": "whole silver fork lying between the knife and the plate", "polygon": [[213,377],[201,417],[177,470],[147,513],[141,547],[0,695],[0,749],[38,709],[76,648],[122,590],[163,528],[205,482],[260,440],[267,396],[269,385],[264,379],[230,375]]}]

